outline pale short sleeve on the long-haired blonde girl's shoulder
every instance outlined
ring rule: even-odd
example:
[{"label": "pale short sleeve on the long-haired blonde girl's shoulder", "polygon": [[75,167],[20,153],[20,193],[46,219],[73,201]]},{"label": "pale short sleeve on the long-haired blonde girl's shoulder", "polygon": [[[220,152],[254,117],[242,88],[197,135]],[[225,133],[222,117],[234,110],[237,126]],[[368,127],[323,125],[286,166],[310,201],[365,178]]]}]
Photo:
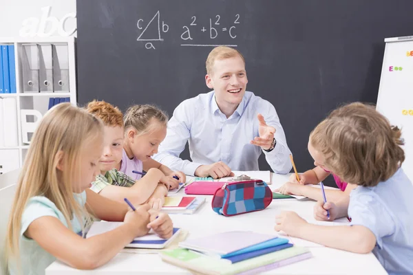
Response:
[{"label": "pale short sleeve on the long-haired blonde girl's shoulder", "polygon": [[23,234],[28,230],[30,223],[45,216],[55,217],[67,226],[65,220],[62,220],[62,217],[59,217],[58,211],[56,205],[49,199],[46,199],[45,197],[32,197],[21,216],[21,236],[25,238]]}]

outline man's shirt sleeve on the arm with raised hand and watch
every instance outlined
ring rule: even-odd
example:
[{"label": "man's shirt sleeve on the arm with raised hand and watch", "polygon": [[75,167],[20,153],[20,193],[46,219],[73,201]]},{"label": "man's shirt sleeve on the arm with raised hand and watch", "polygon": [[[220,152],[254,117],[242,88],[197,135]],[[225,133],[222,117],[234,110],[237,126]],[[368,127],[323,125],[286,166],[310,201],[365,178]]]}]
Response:
[{"label": "man's shirt sleeve on the arm with raised hand and watch", "polygon": [[277,142],[273,151],[266,152],[263,150],[266,161],[275,173],[286,174],[293,168],[293,164],[290,162],[289,155],[291,151],[287,146],[284,129],[282,128],[281,122],[279,122],[277,111],[275,111],[273,104],[262,100],[262,105],[263,107],[260,109],[263,110],[262,115],[264,116],[264,120],[268,126],[275,128],[274,138]]}]

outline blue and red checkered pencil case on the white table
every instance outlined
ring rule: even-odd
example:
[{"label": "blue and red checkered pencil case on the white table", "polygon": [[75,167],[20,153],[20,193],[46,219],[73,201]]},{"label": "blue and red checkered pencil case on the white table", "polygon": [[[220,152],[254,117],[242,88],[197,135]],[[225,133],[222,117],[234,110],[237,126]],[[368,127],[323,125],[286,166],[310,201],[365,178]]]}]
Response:
[{"label": "blue and red checkered pencil case on the white table", "polygon": [[224,216],[234,216],[267,208],[273,201],[273,192],[260,180],[226,182],[215,191],[212,209]]}]

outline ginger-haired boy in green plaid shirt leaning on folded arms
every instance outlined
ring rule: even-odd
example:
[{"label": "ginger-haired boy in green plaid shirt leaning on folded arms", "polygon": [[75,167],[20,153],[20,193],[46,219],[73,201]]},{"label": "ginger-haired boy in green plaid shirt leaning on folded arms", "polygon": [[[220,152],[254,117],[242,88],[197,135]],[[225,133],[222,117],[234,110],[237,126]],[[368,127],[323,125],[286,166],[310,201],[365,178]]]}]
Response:
[{"label": "ginger-haired boy in green plaid shirt leaning on folded arms", "polygon": [[148,170],[146,177],[135,180],[120,171],[123,154],[123,114],[117,107],[105,101],[92,101],[87,111],[104,124],[103,153],[98,162],[100,174],[90,187],[94,192],[123,202],[125,197],[138,205],[149,203],[152,208],[160,209],[168,194],[169,185],[160,183],[164,176],[157,168]]}]

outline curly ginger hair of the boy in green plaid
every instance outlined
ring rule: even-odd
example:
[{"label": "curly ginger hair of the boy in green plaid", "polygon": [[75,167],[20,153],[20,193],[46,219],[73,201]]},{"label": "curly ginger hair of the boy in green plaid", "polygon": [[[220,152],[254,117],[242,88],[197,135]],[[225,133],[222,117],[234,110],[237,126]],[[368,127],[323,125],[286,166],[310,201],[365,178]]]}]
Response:
[{"label": "curly ginger hair of the boy in green plaid", "polygon": [[86,111],[100,118],[106,126],[123,127],[123,113],[108,102],[93,100],[87,104]]}]

